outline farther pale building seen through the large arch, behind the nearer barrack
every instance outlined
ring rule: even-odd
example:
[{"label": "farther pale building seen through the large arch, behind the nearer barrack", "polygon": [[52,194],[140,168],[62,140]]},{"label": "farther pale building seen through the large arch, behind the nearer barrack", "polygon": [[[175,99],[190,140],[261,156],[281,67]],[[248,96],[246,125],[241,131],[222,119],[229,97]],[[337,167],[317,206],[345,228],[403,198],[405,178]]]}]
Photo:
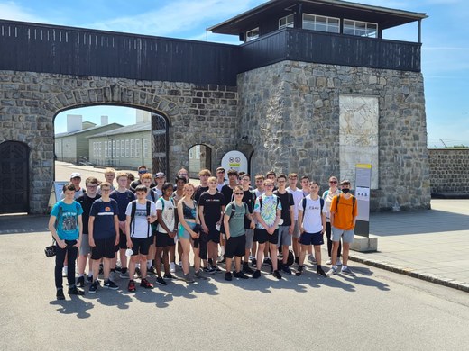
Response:
[{"label": "farther pale building seen through the large arch, behind the nearer barrack", "polygon": [[82,122],[81,115],[67,115],[67,132],[55,135],[55,156],[57,160],[78,164],[89,160],[88,137],[115,130],[122,124],[107,123],[107,116],[101,116],[101,125],[90,121]]}]

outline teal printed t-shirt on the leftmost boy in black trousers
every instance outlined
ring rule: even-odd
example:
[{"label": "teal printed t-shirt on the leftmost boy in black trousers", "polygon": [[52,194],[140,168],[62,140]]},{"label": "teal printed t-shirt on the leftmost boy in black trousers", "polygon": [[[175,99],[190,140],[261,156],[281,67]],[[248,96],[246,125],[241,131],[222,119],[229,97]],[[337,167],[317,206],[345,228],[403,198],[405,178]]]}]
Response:
[{"label": "teal printed t-shirt on the leftmost boy in black trousers", "polygon": [[57,202],[52,207],[51,215],[57,217],[57,235],[61,240],[78,239],[78,216],[83,213],[81,205],[74,201],[70,204]]}]

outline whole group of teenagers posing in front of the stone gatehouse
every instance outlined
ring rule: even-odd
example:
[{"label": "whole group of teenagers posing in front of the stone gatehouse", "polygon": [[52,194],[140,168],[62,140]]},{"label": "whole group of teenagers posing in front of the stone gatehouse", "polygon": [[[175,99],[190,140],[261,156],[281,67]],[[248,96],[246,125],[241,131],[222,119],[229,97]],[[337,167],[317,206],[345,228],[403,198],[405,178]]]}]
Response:
[{"label": "whole group of teenagers posing in front of the stone gatehouse", "polygon": [[[329,188],[320,196],[319,184],[308,176],[301,177],[298,188],[295,173],[255,175],[255,187],[250,175],[234,169],[226,172],[223,167],[216,169],[216,176],[201,170],[198,186],[189,183],[186,169],[179,170],[175,184],[166,182],[161,172],[153,177],[146,166],[140,166],[138,174],[131,182],[132,175],[107,168],[105,181],[88,177],[86,189],[80,186],[81,175],[70,175],[49,221],[56,241],[57,299],[65,299],[63,276],[71,295],[83,295],[79,288],[86,282],[88,293],[97,293],[100,274],[103,288],[118,289],[115,278],[119,275],[128,279],[128,291],[135,292],[135,276],[144,289],[153,287],[149,273],[156,275],[156,284],[166,285],[169,279],[190,284],[207,279],[206,274],[222,272],[217,263],[225,264],[227,281],[249,275],[260,278],[262,265],[270,266],[277,279],[281,274],[302,275],[307,256],[316,265],[317,275],[336,275],[338,266],[343,274],[354,275],[347,261],[357,205],[348,180],[338,184],[331,176]],[[326,264],[331,265],[327,272],[321,257],[325,233]],[[297,266],[294,271],[290,247]],[[176,251],[182,278],[173,275]]]}]

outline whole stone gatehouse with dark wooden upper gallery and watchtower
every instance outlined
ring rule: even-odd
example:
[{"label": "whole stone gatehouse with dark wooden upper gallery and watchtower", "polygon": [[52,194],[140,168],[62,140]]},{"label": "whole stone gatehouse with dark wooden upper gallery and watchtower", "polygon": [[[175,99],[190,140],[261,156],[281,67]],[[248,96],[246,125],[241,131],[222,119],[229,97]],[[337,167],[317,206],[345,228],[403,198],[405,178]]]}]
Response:
[{"label": "whole stone gatehouse with dark wooden upper gallery and watchtower", "polygon": [[[210,28],[242,45],[1,21],[0,151],[23,162],[15,179],[25,184],[21,196],[2,189],[2,200],[16,196],[24,211],[46,211],[55,115],[113,104],[162,116],[166,133],[152,124],[152,166],[170,178],[189,167],[194,145],[209,149],[212,170],[238,149],[252,174],[295,171],[323,188],[329,175],[354,181],[354,165],[369,163],[372,210],[427,209],[426,17],[338,0],[272,0]],[[406,23],[418,23],[417,42],[383,39]],[[12,179],[0,174],[2,186]]]}]

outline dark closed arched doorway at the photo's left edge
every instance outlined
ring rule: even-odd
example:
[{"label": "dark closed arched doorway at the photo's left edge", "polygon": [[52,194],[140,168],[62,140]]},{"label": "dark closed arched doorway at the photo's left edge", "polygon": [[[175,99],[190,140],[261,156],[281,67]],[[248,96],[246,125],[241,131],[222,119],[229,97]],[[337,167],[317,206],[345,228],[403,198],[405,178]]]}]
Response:
[{"label": "dark closed arched doorway at the photo's left edge", "polygon": [[23,142],[0,144],[0,213],[29,212],[29,153]]}]

